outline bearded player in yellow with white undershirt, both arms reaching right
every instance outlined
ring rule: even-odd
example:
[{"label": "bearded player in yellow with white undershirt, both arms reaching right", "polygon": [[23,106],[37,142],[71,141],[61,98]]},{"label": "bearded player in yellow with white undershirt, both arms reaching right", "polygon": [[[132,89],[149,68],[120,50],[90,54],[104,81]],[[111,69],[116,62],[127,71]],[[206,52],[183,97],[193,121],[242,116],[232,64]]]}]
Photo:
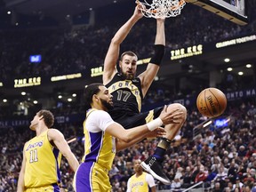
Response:
[{"label": "bearded player in yellow with white undershirt, both arms reaching right", "polygon": [[108,171],[111,169],[116,150],[131,147],[134,143],[151,136],[163,136],[159,124],[172,123],[173,115],[166,106],[160,116],[148,124],[125,130],[109,116],[113,108],[113,96],[104,84],[90,84],[84,90],[86,118],[84,120],[84,157],[75,174],[76,192],[110,192]]}]

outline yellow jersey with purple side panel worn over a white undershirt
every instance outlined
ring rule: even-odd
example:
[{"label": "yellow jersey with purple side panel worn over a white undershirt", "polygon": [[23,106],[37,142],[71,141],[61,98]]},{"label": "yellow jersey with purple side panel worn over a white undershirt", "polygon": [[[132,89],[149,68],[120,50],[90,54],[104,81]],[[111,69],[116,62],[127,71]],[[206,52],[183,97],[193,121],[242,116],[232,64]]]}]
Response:
[{"label": "yellow jersey with purple side panel worn over a white undershirt", "polygon": [[[86,117],[94,110],[96,109],[87,112]],[[85,121],[86,119],[84,120],[83,162],[96,162],[109,171],[116,155],[116,139],[107,132],[88,132]]]}]

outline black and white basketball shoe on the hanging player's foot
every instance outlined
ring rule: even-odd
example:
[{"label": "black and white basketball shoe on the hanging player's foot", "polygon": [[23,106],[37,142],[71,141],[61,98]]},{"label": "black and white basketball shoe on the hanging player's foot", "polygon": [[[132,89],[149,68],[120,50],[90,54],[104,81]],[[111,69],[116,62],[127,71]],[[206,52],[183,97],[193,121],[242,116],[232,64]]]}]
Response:
[{"label": "black and white basketball shoe on the hanging player's foot", "polygon": [[163,168],[158,164],[155,156],[149,156],[148,159],[141,162],[140,165],[145,171],[149,172],[154,178],[156,178],[156,180],[160,180],[164,185],[171,185],[171,181],[164,174]]}]

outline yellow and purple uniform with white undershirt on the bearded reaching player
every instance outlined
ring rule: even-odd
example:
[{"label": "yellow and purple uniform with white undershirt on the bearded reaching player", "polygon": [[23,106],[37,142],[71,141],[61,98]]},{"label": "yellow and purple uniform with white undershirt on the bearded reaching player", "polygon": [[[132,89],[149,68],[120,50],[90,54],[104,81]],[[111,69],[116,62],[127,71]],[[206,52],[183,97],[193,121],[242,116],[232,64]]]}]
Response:
[{"label": "yellow and purple uniform with white undershirt on the bearded reaching player", "polygon": [[84,120],[84,157],[75,174],[76,192],[111,191],[108,171],[116,155],[116,139],[105,132],[114,121],[106,111],[90,109]]}]

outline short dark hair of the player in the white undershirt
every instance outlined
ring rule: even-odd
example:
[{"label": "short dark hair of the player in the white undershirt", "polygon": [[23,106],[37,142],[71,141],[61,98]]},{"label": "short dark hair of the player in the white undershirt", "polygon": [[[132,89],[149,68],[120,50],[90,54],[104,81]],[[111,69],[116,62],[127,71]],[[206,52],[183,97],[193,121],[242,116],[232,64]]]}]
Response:
[{"label": "short dark hair of the player in the white undershirt", "polygon": [[93,83],[89,84],[84,89],[84,103],[85,103],[85,109],[91,108],[92,104],[92,96],[94,94],[97,94],[100,92],[100,86],[104,86],[104,84],[101,83]]}]

